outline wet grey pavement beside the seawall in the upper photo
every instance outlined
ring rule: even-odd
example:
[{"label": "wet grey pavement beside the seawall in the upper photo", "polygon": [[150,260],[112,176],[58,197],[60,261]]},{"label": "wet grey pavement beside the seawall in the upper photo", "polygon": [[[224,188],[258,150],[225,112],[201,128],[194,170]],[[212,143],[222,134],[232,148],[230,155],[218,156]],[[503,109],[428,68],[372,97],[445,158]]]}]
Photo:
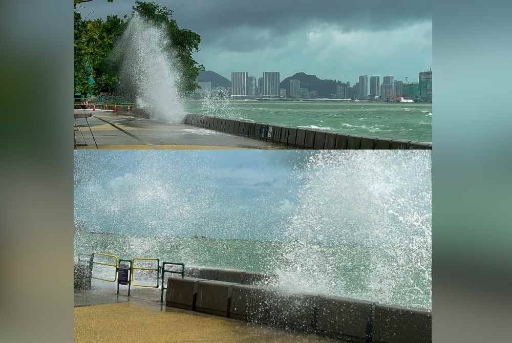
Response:
[{"label": "wet grey pavement beside the seawall in the upper photo", "polygon": [[[230,135],[188,124],[169,124],[106,111],[75,119],[78,149],[281,149],[265,141]],[[89,127],[91,130],[89,130]]]}]

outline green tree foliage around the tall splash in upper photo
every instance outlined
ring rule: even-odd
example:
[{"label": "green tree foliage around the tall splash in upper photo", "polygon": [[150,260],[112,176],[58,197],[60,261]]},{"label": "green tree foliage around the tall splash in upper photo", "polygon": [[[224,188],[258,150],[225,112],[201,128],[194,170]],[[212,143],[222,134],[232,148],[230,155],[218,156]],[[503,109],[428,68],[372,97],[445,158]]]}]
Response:
[{"label": "green tree foliage around the tall splash in upper photo", "polygon": [[[119,66],[109,57],[130,19],[126,15],[123,18],[110,15],[106,20],[84,19],[76,5],[89,1],[92,0],[74,0],[74,91],[82,94],[112,92],[119,79]],[[199,51],[200,36],[191,30],[180,29],[173,19],[173,10],[154,2],[136,1],[132,9],[132,16],[138,12],[145,19],[166,27],[172,42],[172,53],[180,67],[180,91],[196,90],[196,79],[204,67],[194,60],[192,53]]]}]

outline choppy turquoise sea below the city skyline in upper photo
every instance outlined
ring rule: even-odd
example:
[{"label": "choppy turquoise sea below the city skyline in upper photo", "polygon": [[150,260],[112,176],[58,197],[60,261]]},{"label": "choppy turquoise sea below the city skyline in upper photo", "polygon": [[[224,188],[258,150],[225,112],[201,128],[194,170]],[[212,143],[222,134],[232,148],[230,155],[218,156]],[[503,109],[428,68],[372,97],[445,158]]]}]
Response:
[{"label": "choppy turquoise sea below the city skyline in upper photo", "polygon": [[185,111],[284,126],[432,142],[432,103],[364,101],[184,101]]}]

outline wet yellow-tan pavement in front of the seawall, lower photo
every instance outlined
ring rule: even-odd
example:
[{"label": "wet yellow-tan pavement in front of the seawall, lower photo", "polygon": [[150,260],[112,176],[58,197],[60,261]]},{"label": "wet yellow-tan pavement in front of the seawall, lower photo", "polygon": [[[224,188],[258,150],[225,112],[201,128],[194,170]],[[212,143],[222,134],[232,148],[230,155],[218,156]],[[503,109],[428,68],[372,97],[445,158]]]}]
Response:
[{"label": "wet yellow-tan pavement in front of the seawall, lower photo", "polygon": [[[91,290],[74,293],[75,342],[339,342],[209,314],[166,307],[160,289],[93,280]],[[165,295],[165,294],[164,294]]]}]

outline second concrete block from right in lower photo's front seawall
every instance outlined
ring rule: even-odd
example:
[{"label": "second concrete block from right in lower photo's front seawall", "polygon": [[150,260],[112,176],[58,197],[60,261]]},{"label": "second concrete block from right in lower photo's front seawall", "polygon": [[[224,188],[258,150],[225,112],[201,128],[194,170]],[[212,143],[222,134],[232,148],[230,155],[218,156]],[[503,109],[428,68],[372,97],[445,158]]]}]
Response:
[{"label": "second concrete block from right in lower photo's front seawall", "polygon": [[370,332],[373,309],[371,302],[319,296],[316,329],[336,338],[365,340]]}]

